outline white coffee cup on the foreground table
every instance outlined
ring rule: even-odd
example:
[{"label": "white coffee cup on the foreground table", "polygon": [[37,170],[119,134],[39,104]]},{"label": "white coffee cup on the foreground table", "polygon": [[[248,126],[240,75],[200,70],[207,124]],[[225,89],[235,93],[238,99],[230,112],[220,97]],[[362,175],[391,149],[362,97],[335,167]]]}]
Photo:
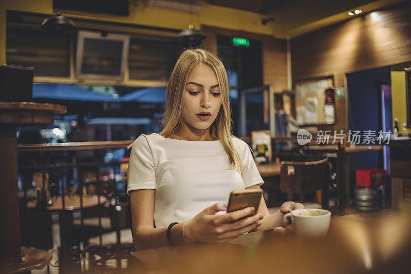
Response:
[{"label": "white coffee cup on the foreground table", "polygon": [[298,236],[324,237],[330,227],[331,212],[316,208],[296,209],[284,215],[284,224],[287,219],[291,223],[286,227]]}]

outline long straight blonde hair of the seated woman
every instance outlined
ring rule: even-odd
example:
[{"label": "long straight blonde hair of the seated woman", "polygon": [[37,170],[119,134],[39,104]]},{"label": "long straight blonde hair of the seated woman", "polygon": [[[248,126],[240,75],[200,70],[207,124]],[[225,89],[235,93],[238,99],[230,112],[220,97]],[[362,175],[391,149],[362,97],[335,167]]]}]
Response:
[{"label": "long straight blonde hair of the seated woman", "polygon": [[183,118],[183,91],[190,71],[198,64],[210,66],[218,80],[222,104],[217,118],[210,128],[210,134],[214,139],[220,141],[222,147],[227,153],[230,169],[235,169],[242,174],[241,158],[234,147],[231,133],[231,110],[229,98],[229,85],[227,72],[218,57],[205,49],[187,49],[184,50],[178,58],[169,83],[167,84],[167,100],[165,103],[165,112],[163,116],[164,129],[160,135],[167,136],[178,132]]}]

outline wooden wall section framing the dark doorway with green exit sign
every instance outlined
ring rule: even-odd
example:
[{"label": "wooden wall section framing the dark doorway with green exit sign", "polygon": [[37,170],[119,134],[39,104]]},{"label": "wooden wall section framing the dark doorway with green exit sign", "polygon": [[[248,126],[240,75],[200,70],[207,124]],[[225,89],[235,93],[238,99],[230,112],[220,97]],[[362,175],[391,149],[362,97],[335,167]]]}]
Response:
[{"label": "wooden wall section framing the dark doorway with green exit sign", "polygon": [[273,84],[276,92],[287,89],[287,41],[269,35],[202,26],[207,38],[202,47],[217,53],[217,35],[238,36],[259,40],[263,45],[263,83]]}]

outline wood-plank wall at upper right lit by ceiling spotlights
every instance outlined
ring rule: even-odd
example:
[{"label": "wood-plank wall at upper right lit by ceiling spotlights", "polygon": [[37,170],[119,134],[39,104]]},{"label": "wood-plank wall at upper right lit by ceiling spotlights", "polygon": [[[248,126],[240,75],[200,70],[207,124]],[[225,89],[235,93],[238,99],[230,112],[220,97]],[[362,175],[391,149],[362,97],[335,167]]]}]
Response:
[{"label": "wood-plank wall at upper right lit by ceiling spotlights", "polygon": [[[411,1],[291,39],[292,79],[345,74],[411,60]],[[347,130],[347,102],[336,100],[335,130]],[[326,126],[329,127],[329,126]]]}]

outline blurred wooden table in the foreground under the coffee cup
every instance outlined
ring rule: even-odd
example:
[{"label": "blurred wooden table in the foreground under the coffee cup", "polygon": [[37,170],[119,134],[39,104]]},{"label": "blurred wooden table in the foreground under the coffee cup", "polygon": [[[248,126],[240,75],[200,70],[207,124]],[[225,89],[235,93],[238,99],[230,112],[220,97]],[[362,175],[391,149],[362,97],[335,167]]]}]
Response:
[{"label": "blurred wooden table in the foreground under the coffee cup", "polygon": [[326,238],[302,239],[272,230],[241,235],[230,244],[194,244],[133,252],[154,273],[362,273],[410,269],[411,217],[331,219]]}]

